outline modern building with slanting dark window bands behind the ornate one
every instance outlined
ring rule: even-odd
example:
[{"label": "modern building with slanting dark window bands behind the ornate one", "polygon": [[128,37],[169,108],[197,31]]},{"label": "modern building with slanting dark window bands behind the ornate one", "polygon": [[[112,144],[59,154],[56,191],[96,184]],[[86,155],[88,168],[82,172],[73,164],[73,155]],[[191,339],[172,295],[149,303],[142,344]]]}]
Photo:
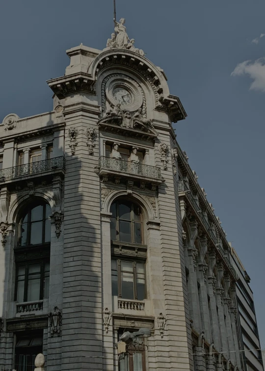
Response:
[{"label": "modern building with slanting dark window bands behind the ornate one", "polygon": [[240,348],[248,371],[263,371],[261,344],[255,315],[253,292],[250,289],[250,277],[242,265],[236,250],[230,249],[231,262],[237,272],[236,293],[238,301],[238,319],[241,326]]}]

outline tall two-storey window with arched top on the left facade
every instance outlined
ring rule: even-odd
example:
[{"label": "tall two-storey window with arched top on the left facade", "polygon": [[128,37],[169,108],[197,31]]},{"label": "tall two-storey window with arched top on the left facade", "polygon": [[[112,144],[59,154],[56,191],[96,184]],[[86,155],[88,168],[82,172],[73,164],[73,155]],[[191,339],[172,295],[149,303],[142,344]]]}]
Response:
[{"label": "tall two-storey window with arched top on the left facade", "polygon": [[51,213],[48,204],[39,202],[20,219],[15,248],[15,301],[20,303],[49,297]]}]

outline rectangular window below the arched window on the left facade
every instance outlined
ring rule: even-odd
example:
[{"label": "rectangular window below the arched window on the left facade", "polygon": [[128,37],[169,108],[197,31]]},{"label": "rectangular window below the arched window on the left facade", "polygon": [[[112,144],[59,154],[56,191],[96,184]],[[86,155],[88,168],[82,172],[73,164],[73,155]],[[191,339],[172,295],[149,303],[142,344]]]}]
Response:
[{"label": "rectangular window below the arched window on the left facade", "polygon": [[18,302],[42,300],[49,297],[50,263],[26,263],[17,266],[16,295]]}]

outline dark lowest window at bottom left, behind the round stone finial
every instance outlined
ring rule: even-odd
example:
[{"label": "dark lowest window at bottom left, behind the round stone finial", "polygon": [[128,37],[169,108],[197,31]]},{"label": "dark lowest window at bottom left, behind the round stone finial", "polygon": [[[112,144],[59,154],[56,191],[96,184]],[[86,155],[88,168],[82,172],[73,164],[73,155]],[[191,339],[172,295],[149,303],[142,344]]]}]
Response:
[{"label": "dark lowest window at bottom left, behind the round stone finial", "polygon": [[16,371],[34,371],[36,355],[42,353],[43,334],[17,336],[15,346]]}]

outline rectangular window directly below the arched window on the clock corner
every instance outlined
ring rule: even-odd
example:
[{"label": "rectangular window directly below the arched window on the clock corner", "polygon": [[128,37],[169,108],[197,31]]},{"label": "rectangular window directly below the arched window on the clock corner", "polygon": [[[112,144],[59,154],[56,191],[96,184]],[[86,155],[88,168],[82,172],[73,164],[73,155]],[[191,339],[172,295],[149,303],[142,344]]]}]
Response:
[{"label": "rectangular window directly below the arched window on the clock corner", "polygon": [[143,300],[146,297],[144,263],[111,261],[112,295],[123,299]]}]

